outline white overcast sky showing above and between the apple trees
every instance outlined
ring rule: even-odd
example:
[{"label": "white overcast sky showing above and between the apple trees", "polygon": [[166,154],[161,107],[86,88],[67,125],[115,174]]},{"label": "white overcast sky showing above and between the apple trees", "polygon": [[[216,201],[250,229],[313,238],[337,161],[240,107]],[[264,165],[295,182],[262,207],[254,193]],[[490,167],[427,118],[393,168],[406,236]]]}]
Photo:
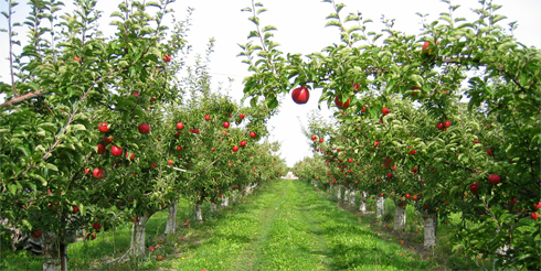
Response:
[{"label": "white overcast sky showing above and between the apple trees", "polygon": [[[15,21],[23,21],[28,14],[26,1],[20,0],[17,8]],[[102,26],[107,26],[109,14],[116,10],[118,0],[98,0],[98,9],[104,11]],[[336,28],[323,28],[325,18],[332,12],[329,3],[319,0],[259,0],[267,12],[261,14],[262,25],[274,25],[278,29],[275,32],[274,41],[282,44],[279,47],[285,53],[319,52],[322,47],[339,42],[338,30]],[[447,6],[438,0],[343,0],[337,1],[347,4],[342,11],[360,11],[364,19],[372,19],[371,31],[381,30],[380,19],[384,14],[386,18],[396,19],[395,29],[405,31],[407,34],[418,34],[421,29],[420,18],[415,14],[421,12],[429,14],[429,21],[435,20],[441,12],[447,12]],[[71,2],[65,1],[66,6]],[[540,0],[498,0],[498,4],[503,8],[499,14],[508,17],[508,20],[500,24],[518,21],[519,28],[515,32],[519,42],[528,46],[541,47],[541,1]],[[475,20],[470,8],[479,7],[475,0],[454,0],[453,4],[460,4],[454,17],[465,17],[469,21]],[[234,78],[233,91],[230,94],[236,100],[242,98],[242,79],[248,76],[247,65],[243,64],[241,57],[236,57],[240,52],[237,44],[246,43],[250,31],[254,30],[252,22],[247,20],[248,13],[241,12],[241,9],[251,6],[250,0],[178,0],[172,8],[176,10],[178,20],[185,18],[187,7],[194,8],[192,15],[192,26],[188,33],[188,41],[193,45],[193,53],[204,53],[210,37],[214,37],[215,48],[212,54],[210,65],[211,75],[214,77],[213,84],[227,82],[227,77]],[[0,0],[0,11],[7,11],[7,2]],[[70,7],[63,11],[70,12]],[[0,19],[0,29],[7,25],[3,17]],[[19,28],[20,40],[24,40],[23,28]],[[113,32],[106,32],[108,36]],[[0,80],[8,82],[9,62],[7,34],[0,33]],[[227,84],[225,84],[227,85]],[[310,100],[303,106],[293,102],[290,96],[283,97],[280,112],[275,116],[269,126],[272,130],[270,140],[282,143],[282,156],[287,164],[293,166],[295,162],[304,156],[311,155],[309,141],[300,130],[300,126],[306,126],[306,118],[309,111],[317,110],[317,101],[321,90],[312,90]],[[0,99],[1,100],[1,99]],[[322,105],[322,113],[330,116],[331,111]]]}]

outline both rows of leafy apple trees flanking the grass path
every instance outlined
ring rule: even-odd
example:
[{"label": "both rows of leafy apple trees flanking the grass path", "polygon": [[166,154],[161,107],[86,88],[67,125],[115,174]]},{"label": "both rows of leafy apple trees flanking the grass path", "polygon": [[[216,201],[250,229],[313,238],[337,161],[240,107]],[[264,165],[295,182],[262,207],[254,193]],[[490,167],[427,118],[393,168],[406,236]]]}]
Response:
[{"label": "both rows of leafy apple trees flanking the grass path", "polygon": [[539,269],[540,51],[503,31],[500,7],[485,1],[473,22],[448,3],[418,36],[390,20],[373,32],[361,13],[323,2],[340,43],[307,55],[279,51],[276,28],[259,21],[262,3],[243,9],[255,26],[241,45],[253,73],[243,107],[210,88],[212,40],[187,64],[189,19],[163,23],[171,0],[120,3],[113,37],[98,30],[95,1],[75,1],[73,17],[60,14],[59,1],[30,1],[25,41],[8,0],[0,218],[9,249],[30,235],[41,241],[44,270],[66,270],[78,231],[92,241],[130,224],[125,257],[142,257],[147,221],[168,212],[165,235],[174,234],[179,199],[202,221],[203,203],[215,210],[285,175],[267,121],[280,95],[303,105],[321,88],[311,98],[336,111],[331,122],[309,116],[314,158],[291,169],[303,181],[359,198],[361,212],[374,197],[379,217],[392,200],[397,231],[413,206],[426,249],[437,246],[438,221],[459,214],[455,249]]}]

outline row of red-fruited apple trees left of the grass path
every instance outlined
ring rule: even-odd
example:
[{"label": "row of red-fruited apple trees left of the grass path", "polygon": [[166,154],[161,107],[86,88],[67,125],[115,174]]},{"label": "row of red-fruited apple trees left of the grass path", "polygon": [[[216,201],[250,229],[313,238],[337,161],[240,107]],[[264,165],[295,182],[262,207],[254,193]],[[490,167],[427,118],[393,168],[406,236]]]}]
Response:
[{"label": "row of red-fruited apple trees left of the grass path", "polygon": [[[78,229],[92,240],[131,223],[130,252],[140,254],[152,214],[169,209],[166,234],[174,231],[179,197],[200,210],[285,171],[279,145],[264,140],[276,110],[211,91],[212,40],[187,68],[190,21],[165,26],[171,2],[121,2],[113,37],[92,0],[70,14],[60,1],[30,1],[22,24],[17,2],[2,12],[11,74],[0,83],[0,229],[14,242],[41,239],[44,270],[66,269]],[[15,54],[21,25],[29,35]]]}]

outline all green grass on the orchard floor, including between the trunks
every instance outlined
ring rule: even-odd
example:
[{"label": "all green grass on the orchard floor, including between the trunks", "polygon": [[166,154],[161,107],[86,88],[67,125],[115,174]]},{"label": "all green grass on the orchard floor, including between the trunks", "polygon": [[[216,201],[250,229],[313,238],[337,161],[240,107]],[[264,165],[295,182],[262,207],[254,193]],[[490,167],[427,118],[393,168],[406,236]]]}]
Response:
[{"label": "all green grass on the orchard floor, including between the trunks", "polygon": [[[357,200],[358,203],[360,200]],[[369,210],[375,208],[369,197]],[[68,246],[70,270],[445,270],[444,258],[422,260],[407,245],[423,241],[421,216],[414,216],[409,207],[406,232],[411,242],[386,235],[392,228],[394,205],[386,203],[391,220],[388,227],[376,225],[373,215],[358,216],[341,209],[328,193],[314,189],[300,181],[280,181],[266,184],[254,195],[242,197],[232,207],[218,213],[203,214],[203,224],[191,223],[192,206],[179,203],[179,230],[163,242],[167,213],[153,215],[147,225],[147,247],[160,247],[138,259],[118,264],[107,264],[118,259],[129,248],[130,224],[98,235],[96,240]],[[359,207],[356,207],[358,209]],[[209,205],[203,205],[208,210]],[[392,215],[391,215],[392,214]],[[438,235],[446,232],[438,228]],[[444,234],[445,235],[445,234]],[[442,253],[447,253],[444,239]],[[441,241],[438,240],[438,241]],[[442,245],[442,241],[438,243]],[[156,257],[163,256],[163,261]],[[443,257],[443,256],[442,256]],[[447,261],[445,259],[445,261]],[[436,263],[437,262],[437,263]],[[41,270],[41,258],[25,251],[3,251],[2,270]],[[478,269],[463,262],[463,258],[449,260],[454,268]]]}]

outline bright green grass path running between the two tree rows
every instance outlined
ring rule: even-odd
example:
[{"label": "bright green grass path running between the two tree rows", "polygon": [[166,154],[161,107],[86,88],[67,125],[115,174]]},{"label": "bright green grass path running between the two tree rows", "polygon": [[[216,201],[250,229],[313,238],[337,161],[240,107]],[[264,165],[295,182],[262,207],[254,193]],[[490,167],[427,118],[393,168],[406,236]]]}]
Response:
[{"label": "bright green grass path running between the two tree rows", "polygon": [[299,181],[268,185],[188,232],[163,270],[426,270],[397,241],[379,237]]}]

